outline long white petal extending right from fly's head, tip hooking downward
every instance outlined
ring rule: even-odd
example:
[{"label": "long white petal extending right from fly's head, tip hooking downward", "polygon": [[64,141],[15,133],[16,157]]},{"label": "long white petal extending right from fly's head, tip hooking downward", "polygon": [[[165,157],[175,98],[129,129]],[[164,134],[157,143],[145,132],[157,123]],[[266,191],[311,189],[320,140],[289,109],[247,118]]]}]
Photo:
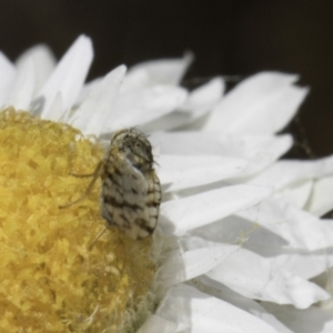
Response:
[{"label": "long white petal extending right from fly's head, tip hooking downward", "polygon": [[154,133],[151,142],[162,154],[229,155],[249,161],[248,167],[234,176],[245,176],[268,168],[292,145],[290,135],[222,135],[220,133],[171,132]]}]

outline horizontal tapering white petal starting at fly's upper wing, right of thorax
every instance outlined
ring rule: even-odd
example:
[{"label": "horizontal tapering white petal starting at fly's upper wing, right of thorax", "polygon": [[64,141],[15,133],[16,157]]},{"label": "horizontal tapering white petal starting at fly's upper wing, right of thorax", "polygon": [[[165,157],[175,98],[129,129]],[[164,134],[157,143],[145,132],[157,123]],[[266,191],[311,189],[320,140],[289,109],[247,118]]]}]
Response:
[{"label": "horizontal tapering white petal starting at fly's upper wing, right of thorax", "polygon": [[161,165],[161,183],[169,184],[165,191],[216,182],[239,173],[246,165],[244,160],[213,155],[161,155],[157,161]]}]

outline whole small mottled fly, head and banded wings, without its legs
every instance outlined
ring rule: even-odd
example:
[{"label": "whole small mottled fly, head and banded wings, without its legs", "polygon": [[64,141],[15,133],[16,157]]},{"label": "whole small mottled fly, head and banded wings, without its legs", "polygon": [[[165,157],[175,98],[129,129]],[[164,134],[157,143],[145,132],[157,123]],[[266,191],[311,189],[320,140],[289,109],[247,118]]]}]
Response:
[{"label": "whole small mottled fly, head and banded wings, without its legs", "polygon": [[117,132],[102,174],[102,214],[132,239],[150,235],[158,223],[161,185],[151,144],[137,129]]}]

